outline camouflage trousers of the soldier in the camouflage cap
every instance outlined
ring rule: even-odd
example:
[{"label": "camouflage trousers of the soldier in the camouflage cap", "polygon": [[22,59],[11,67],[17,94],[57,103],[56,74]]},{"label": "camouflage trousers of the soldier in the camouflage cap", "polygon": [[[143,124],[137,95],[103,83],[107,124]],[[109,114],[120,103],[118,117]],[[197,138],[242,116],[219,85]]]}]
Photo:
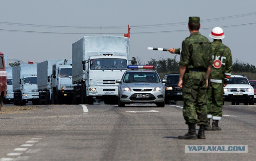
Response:
[{"label": "camouflage trousers of the soldier in the camouflage cap", "polygon": [[185,123],[207,125],[206,73],[185,73],[183,78],[183,116]]}]

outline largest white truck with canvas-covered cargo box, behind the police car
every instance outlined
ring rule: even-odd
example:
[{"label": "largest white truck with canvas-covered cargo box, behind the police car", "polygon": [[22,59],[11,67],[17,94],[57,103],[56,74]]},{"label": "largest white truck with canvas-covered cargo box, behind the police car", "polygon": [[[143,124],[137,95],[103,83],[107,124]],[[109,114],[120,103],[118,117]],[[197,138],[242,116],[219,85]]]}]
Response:
[{"label": "largest white truck with canvas-covered cargo box, behind the police car", "polygon": [[121,36],[85,36],[72,44],[74,104],[118,102],[118,83],[127,70],[129,39]]}]

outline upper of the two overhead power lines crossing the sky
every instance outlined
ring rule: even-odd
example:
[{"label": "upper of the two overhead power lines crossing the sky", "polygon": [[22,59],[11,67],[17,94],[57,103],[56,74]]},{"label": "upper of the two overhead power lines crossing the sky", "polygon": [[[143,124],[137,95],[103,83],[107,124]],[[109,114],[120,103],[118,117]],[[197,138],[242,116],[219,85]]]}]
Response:
[{"label": "upper of the two overhead power lines crossing the sky", "polygon": [[[233,18],[241,18],[246,16],[256,15],[256,12],[245,13],[239,15],[231,15],[219,18],[209,18],[201,20],[201,23],[218,21],[218,20],[227,20]],[[130,26],[131,28],[154,28],[154,27],[166,27],[166,26],[179,26],[187,24],[188,22],[176,22],[176,23],[162,23],[162,24],[151,24],[151,25],[134,25]],[[84,29],[111,29],[111,28],[127,28],[127,26],[54,26],[54,25],[38,25],[38,24],[29,24],[29,23],[11,23],[0,21],[0,24],[4,25],[14,25],[14,26],[29,26],[29,27],[43,27],[43,28],[84,28]]]}]

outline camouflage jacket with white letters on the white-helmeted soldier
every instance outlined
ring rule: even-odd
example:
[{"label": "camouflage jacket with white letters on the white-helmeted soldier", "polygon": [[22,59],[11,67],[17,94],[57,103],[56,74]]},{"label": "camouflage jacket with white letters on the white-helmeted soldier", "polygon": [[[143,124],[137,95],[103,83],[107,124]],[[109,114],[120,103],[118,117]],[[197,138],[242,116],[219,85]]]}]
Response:
[{"label": "camouflage jacket with white letters on the white-helmeted soldier", "polygon": [[[224,47],[225,45],[221,40],[214,40],[212,42],[212,60],[214,61],[219,59],[222,65],[218,69],[212,67],[211,79],[221,79],[226,84],[232,73],[232,55],[229,47],[227,46],[223,53]],[[222,57],[220,58],[221,55]]]}]

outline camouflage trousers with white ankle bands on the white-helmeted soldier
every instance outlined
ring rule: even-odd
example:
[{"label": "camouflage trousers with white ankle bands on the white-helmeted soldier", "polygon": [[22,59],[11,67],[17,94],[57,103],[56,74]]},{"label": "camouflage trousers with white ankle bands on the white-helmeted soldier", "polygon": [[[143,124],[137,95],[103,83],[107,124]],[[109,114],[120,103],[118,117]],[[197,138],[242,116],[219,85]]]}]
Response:
[{"label": "camouflage trousers with white ankle bands on the white-helmeted soldier", "polygon": [[211,82],[207,89],[207,118],[221,120],[223,106],[223,84]]}]

